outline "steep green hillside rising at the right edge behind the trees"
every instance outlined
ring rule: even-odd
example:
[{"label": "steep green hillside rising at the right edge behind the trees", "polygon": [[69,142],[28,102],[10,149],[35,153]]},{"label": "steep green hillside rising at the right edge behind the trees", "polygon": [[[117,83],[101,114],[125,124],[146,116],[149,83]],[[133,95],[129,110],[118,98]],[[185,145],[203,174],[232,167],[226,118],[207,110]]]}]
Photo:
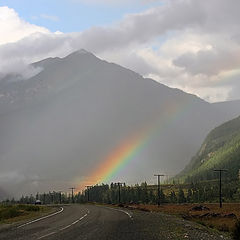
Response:
[{"label": "steep green hillside rising at the right edge behind the trees", "polygon": [[214,169],[227,169],[237,179],[240,169],[240,117],[212,130],[198,153],[178,176],[185,181],[215,179]]}]

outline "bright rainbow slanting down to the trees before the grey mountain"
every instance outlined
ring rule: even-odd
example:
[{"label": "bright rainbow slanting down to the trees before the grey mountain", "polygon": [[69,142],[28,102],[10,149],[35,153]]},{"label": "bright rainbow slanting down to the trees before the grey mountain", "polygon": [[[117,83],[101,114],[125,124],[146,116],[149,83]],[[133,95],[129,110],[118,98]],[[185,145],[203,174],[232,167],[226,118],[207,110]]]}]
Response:
[{"label": "bright rainbow slanting down to the trees before the grey mountain", "polygon": [[158,118],[143,131],[128,137],[127,140],[119,144],[119,146],[103,159],[101,164],[92,172],[92,174],[85,179],[84,183],[82,182],[79,189],[82,190],[84,184],[96,185],[100,183],[109,183],[120,170],[140,154],[150,140],[161,132],[161,129],[165,128],[178,117],[181,117],[191,105],[192,104],[189,102],[186,102],[181,106],[169,104],[165,109],[167,117]]}]

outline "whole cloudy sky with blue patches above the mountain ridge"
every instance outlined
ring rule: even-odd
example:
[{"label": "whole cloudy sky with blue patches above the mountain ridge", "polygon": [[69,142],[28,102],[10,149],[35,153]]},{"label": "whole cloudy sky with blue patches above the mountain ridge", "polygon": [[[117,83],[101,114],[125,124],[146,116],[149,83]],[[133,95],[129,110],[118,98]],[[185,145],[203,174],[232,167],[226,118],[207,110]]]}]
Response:
[{"label": "whole cloudy sky with blue patches above the mountain ridge", "polygon": [[0,79],[86,49],[206,101],[240,99],[239,0],[0,1]]}]

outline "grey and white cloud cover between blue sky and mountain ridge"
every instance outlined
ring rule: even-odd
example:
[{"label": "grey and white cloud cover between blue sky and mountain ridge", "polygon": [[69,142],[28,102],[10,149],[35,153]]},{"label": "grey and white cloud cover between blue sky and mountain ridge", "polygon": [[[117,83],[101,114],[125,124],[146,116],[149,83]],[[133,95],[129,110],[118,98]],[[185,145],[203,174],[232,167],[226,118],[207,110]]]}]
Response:
[{"label": "grey and white cloud cover between blue sky and mountain ridge", "polygon": [[[225,100],[236,81],[226,84],[223,74],[240,68],[238,9],[240,2],[236,0],[169,0],[126,15],[110,26],[57,34],[24,22],[13,9],[5,7],[1,11],[8,20],[3,21],[0,72],[10,68],[7,66],[20,69],[42,58],[63,57],[85,48],[169,86],[211,101]],[[19,34],[11,30],[16,25]],[[221,94],[217,94],[220,89]]]}]

